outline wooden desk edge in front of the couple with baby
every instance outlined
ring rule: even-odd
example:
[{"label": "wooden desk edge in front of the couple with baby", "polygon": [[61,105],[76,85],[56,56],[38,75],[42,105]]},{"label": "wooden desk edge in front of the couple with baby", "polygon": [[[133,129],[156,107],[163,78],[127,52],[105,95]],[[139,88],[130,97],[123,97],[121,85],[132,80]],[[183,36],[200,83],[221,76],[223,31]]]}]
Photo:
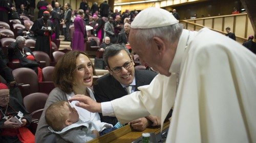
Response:
[{"label": "wooden desk edge in front of the couple with baby", "polygon": [[[169,127],[169,121],[165,122],[163,125],[163,130]],[[131,129],[130,125],[126,125],[120,129],[117,129],[115,131],[112,131],[108,134],[105,134],[101,137],[95,138],[91,141],[88,141],[90,143],[96,143],[96,142],[111,142],[111,143],[131,143],[135,139],[139,138],[142,133],[151,133],[155,132],[156,134],[161,132],[161,128],[146,128],[144,131],[134,131]]]}]

